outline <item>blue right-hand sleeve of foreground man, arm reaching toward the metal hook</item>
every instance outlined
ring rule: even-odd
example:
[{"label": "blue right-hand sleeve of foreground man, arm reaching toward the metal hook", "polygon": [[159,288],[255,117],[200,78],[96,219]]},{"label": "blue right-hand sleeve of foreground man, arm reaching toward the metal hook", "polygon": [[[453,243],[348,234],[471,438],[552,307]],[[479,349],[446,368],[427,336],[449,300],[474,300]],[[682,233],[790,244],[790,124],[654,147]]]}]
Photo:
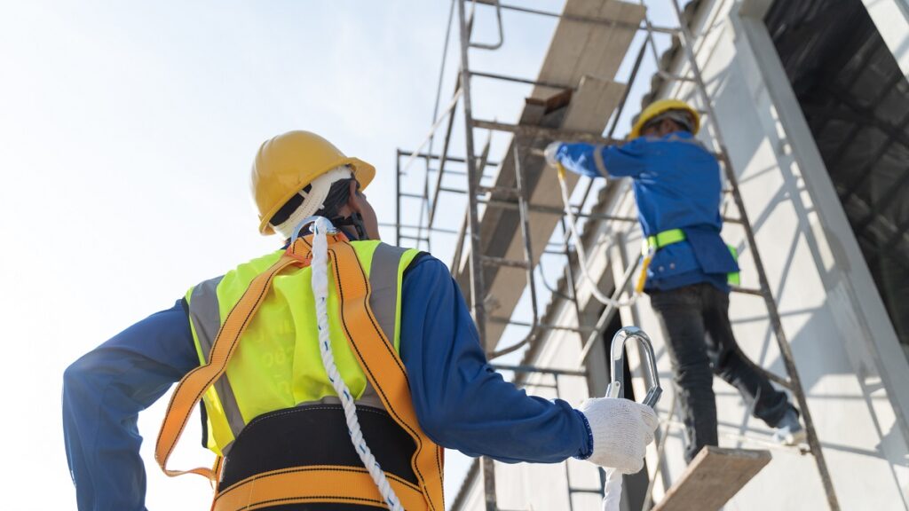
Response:
[{"label": "blue right-hand sleeve of foreground man, arm reaching toward the metal hook", "polygon": [[568,403],[527,396],[486,362],[464,297],[434,257],[405,274],[401,357],[416,415],[435,443],[499,461],[554,463],[590,456],[584,416]]}]

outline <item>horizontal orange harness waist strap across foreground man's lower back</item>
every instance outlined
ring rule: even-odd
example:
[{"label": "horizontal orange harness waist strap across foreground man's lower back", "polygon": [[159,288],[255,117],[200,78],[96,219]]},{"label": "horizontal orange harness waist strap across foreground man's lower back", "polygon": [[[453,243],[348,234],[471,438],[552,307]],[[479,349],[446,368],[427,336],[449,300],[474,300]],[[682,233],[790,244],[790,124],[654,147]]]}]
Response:
[{"label": "horizontal orange harness waist strap across foreground man's lower back", "polygon": [[[393,474],[388,482],[405,509],[423,509],[420,488]],[[355,466],[298,466],[248,477],[215,496],[212,511],[329,502],[387,508],[365,468]]]}]

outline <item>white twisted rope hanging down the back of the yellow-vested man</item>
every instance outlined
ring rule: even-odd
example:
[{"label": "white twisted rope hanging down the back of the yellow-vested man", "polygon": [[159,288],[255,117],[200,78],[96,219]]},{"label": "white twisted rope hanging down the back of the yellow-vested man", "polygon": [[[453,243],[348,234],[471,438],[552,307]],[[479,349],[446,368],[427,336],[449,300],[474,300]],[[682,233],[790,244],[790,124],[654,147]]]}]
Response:
[{"label": "white twisted rope hanging down the back of the yellow-vested man", "polygon": [[366,440],[363,432],[360,431],[360,422],[356,418],[356,406],[354,397],[351,396],[350,390],[338,372],[335,366],[335,356],[332,354],[332,342],[328,330],[328,242],[325,234],[333,229],[331,222],[322,216],[316,216],[313,223],[313,295],[315,296],[315,316],[319,327],[319,351],[322,352],[322,365],[325,366],[325,372],[328,374],[328,380],[335,387],[335,392],[341,398],[341,405],[344,406],[344,415],[347,419],[347,429],[350,433],[351,442],[354,443],[356,454],[363,460],[363,465],[373,477],[375,486],[378,486],[379,493],[385,499],[385,503],[394,511],[404,511],[401,501],[395,495],[395,490],[388,483],[385,472],[375,460],[373,452],[366,446]]}]

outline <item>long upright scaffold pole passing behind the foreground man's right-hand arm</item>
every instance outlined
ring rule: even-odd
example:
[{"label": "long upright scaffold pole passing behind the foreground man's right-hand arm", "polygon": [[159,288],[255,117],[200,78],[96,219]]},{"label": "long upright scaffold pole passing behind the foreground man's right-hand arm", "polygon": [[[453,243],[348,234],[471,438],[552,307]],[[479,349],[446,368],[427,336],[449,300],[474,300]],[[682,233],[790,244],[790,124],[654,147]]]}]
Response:
[{"label": "long upright scaffold pole passing behind the foreground man's right-hand arm", "polygon": [[[480,245],[480,219],[477,212],[476,190],[479,184],[476,159],[474,156],[474,117],[471,109],[470,97],[470,65],[467,53],[470,45],[470,31],[467,29],[467,17],[464,12],[464,1],[457,0],[458,22],[461,25],[461,87],[464,99],[464,144],[467,154],[464,156],[467,164],[467,200],[469,202],[467,215],[470,224],[470,298],[474,313],[476,330],[480,336],[480,345],[485,350],[486,346],[486,315],[484,299],[486,290],[483,278],[483,255]],[[483,469],[483,486],[486,511],[495,511],[495,466],[492,458],[484,457],[481,463]]]}]

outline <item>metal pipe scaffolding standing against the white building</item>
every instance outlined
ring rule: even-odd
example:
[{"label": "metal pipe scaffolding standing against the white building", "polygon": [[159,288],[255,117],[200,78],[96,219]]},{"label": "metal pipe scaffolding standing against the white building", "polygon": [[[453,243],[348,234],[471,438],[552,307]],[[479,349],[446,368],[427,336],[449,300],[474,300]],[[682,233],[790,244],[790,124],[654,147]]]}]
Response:
[{"label": "metal pipe scaffolding standing against the white building", "polygon": [[[471,306],[471,312],[477,326],[481,343],[485,347],[487,356],[491,361],[494,361],[500,356],[513,353],[514,351],[522,349],[526,346],[533,345],[534,342],[540,338],[541,334],[547,330],[564,330],[574,332],[582,340],[582,356],[578,363],[579,368],[576,371],[564,371],[537,366],[498,366],[499,368],[512,371],[515,373],[515,375],[537,374],[551,376],[554,378],[556,383],[556,392],[557,379],[559,376],[589,376],[587,373],[587,358],[590,355],[592,348],[596,346],[597,343],[603,342],[602,338],[604,336],[604,331],[607,326],[609,326],[613,321],[615,314],[618,312],[619,307],[617,307],[617,305],[621,305],[618,303],[619,300],[623,296],[630,296],[632,294],[632,286],[630,285],[632,283],[633,276],[636,273],[638,266],[640,265],[640,259],[636,259],[630,262],[630,264],[624,270],[623,278],[616,282],[614,286],[614,293],[611,296],[611,302],[605,306],[602,314],[599,315],[596,321],[593,324],[589,325],[581,324],[580,322],[582,321],[583,316],[580,313],[580,306],[578,303],[578,290],[576,286],[577,276],[574,275],[573,270],[577,264],[574,249],[570,242],[570,225],[566,225],[568,219],[565,217],[564,209],[561,207],[555,207],[552,204],[534,203],[534,200],[532,200],[532,196],[528,189],[529,186],[526,162],[534,158],[536,158],[537,161],[539,161],[539,159],[542,159],[542,147],[546,143],[555,140],[569,142],[589,142],[602,145],[620,144],[621,141],[614,138],[616,125],[618,124],[618,120],[626,107],[629,91],[632,85],[634,85],[634,81],[639,74],[644,56],[649,52],[657,63],[660,61],[658,55],[659,52],[654,40],[654,35],[664,34],[674,36],[677,38],[678,45],[682,50],[681,56],[684,58],[684,63],[687,65],[689,74],[673,75],[665,72],[662,69],[657,71],[657,73],[665,82],[686,82],[692,85],[701,101],[703,108],[701,114],[704,115],[707,121],[712,125],[712,144],[714,145],[713,152],[724,170],[724,176],[726,180],[726,183],[724,184],[724,191],[727,200],[731,199],[732,204],[737,211],[737,215],[734,215],[734,217],[724,218],[724,221],[738,224],[743,228],[745,240],[747,243],[746,246],[750,250],[753,257],[754,270],[758,276],[759,281],[758,288],[744,288],[734,286],[733,291],[735,293],[744,293],[753,296],[760,296],[763,298],[764,305],[767,310],[768,321],[772,326],[776,344],[779,347],[780,354],[784,361],[786,376],[776,375],[761,366],[755,366],[755,368],[761,371],[777,385],[783,386],[784,388],[788,389],[790,392],[792,392],[793,396],[795,396],[799,409],[802,413],[805,431],[807,434],[807,447],[803,450],[803,453],[814,456],[815,465],[824,486],[827,503],[830,509],[838,510],[839,504],[836,499],[834,486],[824,460],[824,453],[821,450],[817,433],[814,428],[814,421],[812,419],[811,412],[807,406],[804,389],[798,375],[798,370],[794,364],[793,352],[786,338],[780,314],[774,301],[774,296],[770,290],[761,255],[754,239],[754,230],[748,219],[747,212],[744,209],[744,202],[739,191],[737,177],[734,172],[731,160],[726,154],[724,137],[717,123],[711,98],[708,94],[707,87],[704,85],[704,78],[701,75],[700,68],[694,55],[694,38],[684,20],[684,12],[682,6],[679,4],[679,0],[669,0],[669,3],[674,8],[674,14],[678,19],[678,25],[674,27],[657,26],[651,23],[650,18],[646,15],[646,5],[644,4],[644,0],[639,0],[637,5],[627,4],[624,2],[615,2],[614,0],[604,0],[604,2],[599,3],[600,5],[633,5],[639,9],[638,11],[635,11],[640,14],[639,21],[628,21],[629,18],[634,19],[634,13],[632,15],[628,15],[628,13],[631,12],[628,10],[623,11],[613,9],[612,12],[616,14],[614,17],[610,17],[608,15],[578,14],[576,3],[574,5],[575,8],[573,8],[573,0],[568,0],[566,2],[563,13],[547,12],[522,5],[506,5],[502,3],[501,0],[474,0],[470,3],[472,4],[473,9],[468,14],[468,0],[452,1],[451,11],[449,13],[448,32],[445,35],[445,49],[447,49],[452,27],[454,26],[458,29],[460,42],[458,45],[460,67],[457,74],[457,81],[454,87],[454,94],[452,95],[448,105],[440,113],[439,104],[443,89],[442,85],[445,72],[445,55],[447,55],[447,52],[445,51],[442,65],[443,72],[439,76],[439,85],[437,88],[433,125],[429,132],[425,135],[425,139],[416,148],[416,150],[403,151],[399,149],[397,152],[397,206],[395,224],[396,243],[398,245],[401,245],[405,241],[412,241],[415,242],[415,245],[422,244],[425,245],[427,249],[431,249],[433,234],[456,236],[454,258],[451,266],[452,274],[455,278],[459,278],[459,284],[461,284],[462,288],[464,289],[465,295],[468,297],[468,301]],[[497,28],[497,40],[494,43],[479,43],[471,40],[471,34],[474,25],[474,14],[477,12],[476,5],[478,4],[488,5],[494,9],[495,23]],[[552,112],[560,107],[564,107],[564,105],[570,105],[573,99],[573,95],[584,94],[583,79],[579,83],[555,82],[546,79],[545,76],[541,77],[538,80],[532,80],[523,77],[501,75],[475,70],[470,66],[470,55],[472,50],[495,51],[499,50],[504,45],[505,33],[503,13],[505,11],[523,13],[524,15],[539,15],[555,18],[558,20],[560,27],[562,24],[568,23],[569,25],[566,26],[569,28],[571,26],[578,26],[580,24],[607,27],[612,30],[629,32],[632,35],[636,33],[644,33],[643,42],[641,43],[640,48],[637,50],[637,54],[634,58],[634,64],[631,67],[630,75],[627,78],[626,85],[621,90],[621,93],[619,94],[620,97],[617,103],[614,105],[614,108],[610,108],[610,112],[612,113],[612,122],[608,126],[608,129],[592,132],[589,130],[565,128],[564,125],[545,125],[546,123],[544,122],[524,122],[529,116],[527,115],[528,109],[535,108],[538,112]],[[630,45],[631,38],[628,39],[628,46]],[[624,55],[622,56],[624,57]],[[478,119],[474,117],[473,111],[474,96],[471,82],[474,78],[534,85],[534,91],[544,90],[548,91],[549,94],[548,97],[545,97],[544,99],[536,97],[536,95],[534,95],[534,97],[528,98],[526,105],[527,109],[524,111],[521,122],[517,124],[508,124],[499,122],[497,120]],[[610,83],[615,85],[613,82]],[[606,87],[608,86],[610,85],[602,85],[600,86],[599,90],[601,92],[605,91]],[[610,90],[612,90],[613,93],[616,92],[614,89]],[[452,135],[454,131],[454,121],[459,106],[461,107],[460,111],[463,114],[465,127],[465,153],[464,156],[461,157],[449,154],[452,148],[451,146],[453,145]],[[543,114],[537,115],[536,120],[539,121],[540,119],[544,119]],[[604,118],[604,123],[608,119],[609,115],[607,114]],[[442,148],[440,152],[434,153],[435,137],[437,136],[439,128],[443,125],[445,125],[445,132],[444,135],[442,135]],[[476,151],[474,130],[485,130],[489,134],[483,149],[479,153]],[[502,162],[494,162],[490,161],[489,159],[490,139],[493,132],[504,132],[513,135],[510,151],[506,153],[505,158]],[[427,147],[428,149],[426,149]],[[404,164],[402,164],[402,159],[405,160]],[[402,178],[405,175],[409,175],[407,174],[408,171],[414,166],[413,163],[417,160],[423,160],[425,162],[425,175],[423,176],[424,181],[422,186],[422,193],[415,194],[404,192],[402,187]],[[453,170],[451,168],[446,168],[446,166],[450,167],[451,164],[462,165],[464,168],[463,170]],[[495,185],[482,184],[483,179],[489,177],[485,174],[485,171],[487,169],[497,167],[504,168],[506,165],[509,168],[514,169],[513,185],[504,185],[501,182],[496,183]],[[553,171],[550,170],[550,174],[553,174]],[[445,175],[452,175],[457,176],[458,178],[463,178],[465,186],[463,188],[445,186]],[[537,178],[539,179],[539,176],[537,176]],[[574,183],[571,185],[574,185]],[[593,185],[593,180],[589,180],[584,188],[583,193],[581,194],[580,201],[574,205],[566,205],[567,207],[571,208],[571,211],[574,212],[574,215],[572,216],[576,221],[584,220],[586,222],[616,222],[622,223],[624,225],[634,225],[634,223],[637,222],[636,218],[630,216],[604,215],[588,211],[585,206],[588,203],[588,198],[591,195]],[[442,194],[459,195],[466,198],[466,212],[459,229],[440,227],[436,225],[437,219],[442,213],[439,209],[440,195]],[[417,201],[419,203],[419,215],[417,215],[418,217],[415,224],[402,223],[402,210],[404,207],[404,201]],[[483,217],[480,215],[481,207],[485,208],[484,216],[503,215],[503,218],[509,219],[509,221],[512,223],[516,221],[517,229],[514,232],[520,233],[519,235],[515,236],[515,239],[517,239],[517,236],[520,236],[520,254],[522,255],[521,258],[509,258],[504,254],[490,253],[490,239],[488,237],[484,238],[485,225],[482,225]],[[530,221],[531,214],[537,215],[537,218],[541,217],[542,215],[551,216],[554,221],[554,227],[560,227],[562,234],[561,242],[555,244],[549,243],[549,239],[553,234],[554,228],[548,230],[549,234],[546,235],[545,240],[534,239],[532,241],[531,238],[534,236],[532,235],[532,225]],[[506,217],[504,215],[510,216]],[[486,234],[488,234],[488,232]],[[534,245],[534,243],[538,245]],[[541,243],[543,245],[542,249],[539,245]],[[577,240],[576,243],[581,243],[581,241]],[[579,322],[576,325],[554,325],[541,322],[539,306],[537,304],[538,279],[542,281],[544,287],[547,288],[551,293],[558,293],[552,286],[546,284],[544,276],[542,276],[542,269],[539,271],[541,275],[536,275],[536,270],[539,269],[540,266],[540,259],[544,254],[559,255],[564,257],[564,282],[567,286],[567,291],[561,297],[572,302],[572,306],[574,306],[574,310],[577,312],[577,318]],[[489,311],[487,310],[487,307],[489,306],[489,296],[487,296],[487,293],[489,291],[489,284],[487,282],[487,277],[490,272],[495,272],[499,268],[516,268],[523,270],[525,280],[524,286],[527,290],[527,296],[529,297],[532,316],[529,321],[519,321],[512,316],[500,317],[491,316],[489,314]],[[487,331],[490,327],[494,327],[497,329],[497,331],[500,331],[502,328],[504,328],[504,326],[507,325],[524,326],[529,328],[529,332],[520,342],[517,342],[512,346],[498,348],[496,346],[497,338],[490,338],[490,336],[487,336]],[[747,359],[747,357],[745,358]],[[663,423],[664,430],[662,431],[661,441],[658,443],[658,453],[660,456],[662,456],[664,438],[668,432],[668,428],[670,426],[679,426],[678,424],[674,424],[671,420],[663,421]],[[482,472],[485,508],[487,511],[498,509],[496,503],[493,461],[490,458],[483,458],[480,464],[480,468]],[[657,468],[657,470],[659,470],[659,468]],[[566,477],[568,477],[567,487],[569,488],[570,494],[575,491],[585,493],[593,493],[595,491],[602,492],[602,486],[600,488],[574,488],[574,486],[571,485],[570,476],[568,475],[567,469],[565,470],[565,474]],[[656,475],[654,474],[654,478],[655,476]],[[651,481],[651,485],[648,488],[648,502],[651,497],[652,490],[653,480]],[[572,502],[570,495],[568,501],[569,503]],[[571,504],[569,504],[569,506],[571,506]]]}]

